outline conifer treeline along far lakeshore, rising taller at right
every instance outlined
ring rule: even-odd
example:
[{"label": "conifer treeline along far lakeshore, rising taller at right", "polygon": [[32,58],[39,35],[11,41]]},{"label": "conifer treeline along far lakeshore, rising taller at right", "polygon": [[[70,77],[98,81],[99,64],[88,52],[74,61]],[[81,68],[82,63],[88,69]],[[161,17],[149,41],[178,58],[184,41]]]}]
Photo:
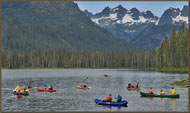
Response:
[{"label": "conifer treeline along far lakeshore, rising taller at right", "polygon": [[126,53],[66,51],[63,49],[2,50],[3,68],[186,68],[188,31],[184,24],[178,32],[155,50]]}]

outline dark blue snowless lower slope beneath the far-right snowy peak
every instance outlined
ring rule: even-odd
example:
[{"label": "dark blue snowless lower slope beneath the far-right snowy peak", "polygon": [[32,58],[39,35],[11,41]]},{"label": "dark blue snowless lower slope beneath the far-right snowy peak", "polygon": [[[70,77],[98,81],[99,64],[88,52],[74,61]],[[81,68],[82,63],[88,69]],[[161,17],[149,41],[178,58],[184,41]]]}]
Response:
[{"label": "dark blue snowless lower slope beneath the far-right snowy peak", "polygon": [[166,36],[170,36],[173,28],[178,30],[179,26],[172,24],[151,25],[145,28],[137,37],[131,40],[131,43],[136,45],[137,48],[142,48],[144,50],[157,48]]}]

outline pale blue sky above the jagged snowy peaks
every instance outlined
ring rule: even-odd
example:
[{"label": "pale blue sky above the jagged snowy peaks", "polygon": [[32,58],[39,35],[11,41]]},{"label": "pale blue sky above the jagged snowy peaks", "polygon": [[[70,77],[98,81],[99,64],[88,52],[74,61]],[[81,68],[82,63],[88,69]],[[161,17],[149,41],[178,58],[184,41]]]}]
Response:
[{"label": "pale blue sky above the jagged snowy peaks", "polygon": [[75,1],[75,3],[82,11],[87,9],[93,14],[101,12],[106,6],[114,8],[121,4],[127,10],[136,7],[141,12],[149,10],[158,17],[170,7],[182,9],[184,5],[188,5],[188,1]]}]

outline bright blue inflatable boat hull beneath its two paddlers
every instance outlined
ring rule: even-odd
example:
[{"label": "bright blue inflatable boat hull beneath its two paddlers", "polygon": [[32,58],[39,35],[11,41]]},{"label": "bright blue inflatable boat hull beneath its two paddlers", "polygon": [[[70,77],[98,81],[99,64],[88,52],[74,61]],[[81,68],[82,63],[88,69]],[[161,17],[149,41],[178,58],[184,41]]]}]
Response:
[{"label": "bright blue inflatable boat hull beneath its two paddlers", "polygon": [[127,104],[128,104],[128,102],[126,100],[124,100],[122,102],[102,102],[98,99],[95,99],[94,101],[98,105],[127,106]]}]

